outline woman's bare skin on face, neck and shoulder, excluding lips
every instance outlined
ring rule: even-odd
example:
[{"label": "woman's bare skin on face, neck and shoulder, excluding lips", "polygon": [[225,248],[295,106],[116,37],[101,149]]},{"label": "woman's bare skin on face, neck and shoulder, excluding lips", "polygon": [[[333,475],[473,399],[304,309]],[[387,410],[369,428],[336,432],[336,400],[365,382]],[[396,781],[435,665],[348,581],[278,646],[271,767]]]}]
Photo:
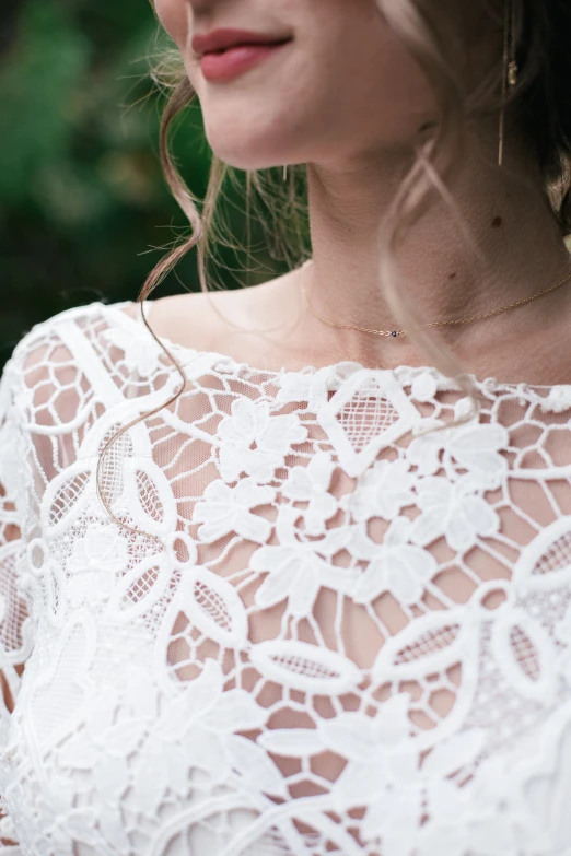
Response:
[{"label": "woman's bare skin on face, neck and shoulder, excluding lips", "polygon": [[[398,326],[378,282],[378,224],[412,163],[422,126],[435,113],[421,69],[375,0],[156,0],[155,8],[182,52],[215,154],[241,169],[308,165],[313,263],[303,275],[314,308],[341,324]],[[501,32],[478,14],[477,4],[445,0],[439,9],[451,49],[464,59],[466,85],[477,84],[501,57]],[[293,40],[242,77],[210,83],[191,38],[222,26]],[[470,128],[467,152],[447,178],[486,255],[483,270],[476,267],[456,215],[435,196],[401,246],[399,270],[426,323],[488,313],[570,272],[569,253],[541,199],[526,143],[511,130],[504,168],[499,167],[498,117],[481,120]],[[303,304],[301,275],[295,270],[263,285],[218,292],[212,304],[200,294],[156,301],[153,328],[171,341],[266,368],[340,360],[385,367],[427,364],[426,353],[408,337],[333,329],[314,318]],[[571,285],[493,319],[442,327],[436,335],[479,377],[569,383],[570,308]]]}]

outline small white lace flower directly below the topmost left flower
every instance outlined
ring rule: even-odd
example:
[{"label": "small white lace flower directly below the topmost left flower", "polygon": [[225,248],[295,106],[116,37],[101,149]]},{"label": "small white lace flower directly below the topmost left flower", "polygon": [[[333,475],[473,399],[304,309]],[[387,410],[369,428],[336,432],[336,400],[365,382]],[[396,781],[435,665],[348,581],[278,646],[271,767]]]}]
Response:
[{"label": "small white lace flower directly below the topmost left flower", "polygon": [[201,523],[198,537],[212,543],[230,532],[248,541],[264,543],[268,540],[272,524],[250,509],[273,502],[276,491],[258,485],[252,479],[242,479],[230,488],[221,479],[211,482],[203,493],[203,502],[195,505],[193,523]]}]

